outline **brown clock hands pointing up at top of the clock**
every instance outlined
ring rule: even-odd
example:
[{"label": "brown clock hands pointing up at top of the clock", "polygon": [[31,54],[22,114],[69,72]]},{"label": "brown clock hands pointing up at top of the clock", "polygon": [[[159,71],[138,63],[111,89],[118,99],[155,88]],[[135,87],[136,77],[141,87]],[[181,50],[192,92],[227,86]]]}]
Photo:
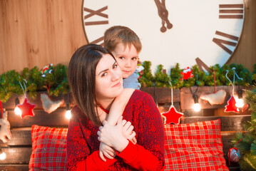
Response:
[{"label": "brown clock hands pointing up at top of the clock", "polygon": [[165,7],[165,0],[162,0],[162,3],[160,3],[160,0],[154,0],[154,1],[156,6],[158,7],[158,15],[162,20],[162,27],[160,28],[160,31],[164,33],[167,30],[165,27],[165,22],[167,24],[168,29],[172,28],[173,24],[170,24],[170,21],[168,20],[168,10]]}]

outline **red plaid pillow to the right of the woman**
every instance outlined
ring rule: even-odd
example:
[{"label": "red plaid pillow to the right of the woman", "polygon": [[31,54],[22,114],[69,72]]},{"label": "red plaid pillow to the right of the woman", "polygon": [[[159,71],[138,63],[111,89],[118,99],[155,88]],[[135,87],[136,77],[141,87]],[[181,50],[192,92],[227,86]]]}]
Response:
[{"label": "red plaid pillow to the right of the woman", "polygon": [[165,170],[228,170],[220,120],[165,125]]}]

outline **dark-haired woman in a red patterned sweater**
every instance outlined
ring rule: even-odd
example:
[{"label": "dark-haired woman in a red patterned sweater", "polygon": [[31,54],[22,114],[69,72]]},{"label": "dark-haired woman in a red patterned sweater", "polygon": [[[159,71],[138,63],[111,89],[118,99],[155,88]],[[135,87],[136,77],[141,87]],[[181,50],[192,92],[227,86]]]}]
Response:
[{"label": "dark-haired woman in a red patterned sweater", "polygon": [[[100,106],[108,111],[123,91],[121,69],[111,53],[93,44],[78,48],[68,66],[68,81],[77,103],[68,126],[68,170],[163,170],[163,121],[150,95],[135,90],[115,126],[96,110]],[[123,133],[131,128],[135,145]],[[113,159],[101,160],[99,140],[115,150]]]}]

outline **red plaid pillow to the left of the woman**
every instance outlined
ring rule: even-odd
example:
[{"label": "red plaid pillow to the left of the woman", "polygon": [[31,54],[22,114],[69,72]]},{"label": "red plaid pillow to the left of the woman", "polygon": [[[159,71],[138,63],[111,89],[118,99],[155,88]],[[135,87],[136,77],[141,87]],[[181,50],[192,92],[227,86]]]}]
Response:
[{"label": "red plaid pillow to the left of the woman", "polygon": [[29,170],[66,170],[67,128],[33,125]]}]

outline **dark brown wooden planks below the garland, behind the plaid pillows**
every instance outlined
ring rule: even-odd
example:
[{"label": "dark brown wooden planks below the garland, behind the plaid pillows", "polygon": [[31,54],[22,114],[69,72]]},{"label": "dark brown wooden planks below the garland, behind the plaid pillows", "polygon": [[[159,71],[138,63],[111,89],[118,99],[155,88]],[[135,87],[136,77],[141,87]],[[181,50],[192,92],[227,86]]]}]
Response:
[{"label": "dark brown wooden planks below the garland, behind the plaid pillows", "polygon": [[[223,88],[227,91],[227,99],[230,98],[230,92],[232,92],[232,87],[217,87],[218,89]],[[235,87],[237,90],[237,86]],[[160,113],[168,111],[171,104],[170,98],[170,89],[169,88],[141,88],[141,90],[149,93],[154,100],[158,103],[158,108]],[[221,122],[221,135],[222,135],[222,143],[223,143],[223,151],[225,158],[227,159],[227,152],[232,147],[230,141],[232,137],[237,133],[237,131],[243,131],[243,124],[246,120],[250,120],[250,112],[246,113],[221,113],[216,114],[211,110],[224,110],[223,105],[215,105],[210,106],[204,105],[204,109],[195,113],[188,108],[183,108],[184,103],[190,105],[191,93],[188,91],[189,88],[182,88],[181,90],[175,89],[173,90],[173,103],[175,108],[178,111],[182,111],[184,113],[184,117],[181,120],[181,123],[195,123],[198,121],[204,120],[216,120],[220,119]],[[202,90],[207,92],[212,92],[212,88],[209,87],[200,87],[198,89],[198,93],[202,92]],[[0,160],[0,170],[28,170],[29,168],[29,159],[31,155],[31,125],[42,125],[56,128],[68,128],[68,120],[65,118],[66,112],[66,103],[63,103],[60,108],[58,108],[53,113],[46,113],[42,108],[42,103],[40,100],[40,94],[46,92],[39,92],[37,98],[35,100],[28,97],[30,103],[36,104],[36,108],[34,108],[34,117],[25,117],[21,119],[18,115],[14,114],[15,108],[15,98],[18,97],[20,102],[23,103],[24,96],[23,95],[13,95],[6,103],[4,103],[4,108],[8,113],[8,120],[11,124],[11,134],[12,139],[6,143],[1,142],[0,147],[4,152],[6,152],[6,160]],[[52,100],[60,100],[64,99],[67,101],[68,95],[60,95],[58,97],[51,97]],[[69,95],[69,103],[71,106],[74,105],[72,95]],[[192,102],[193,103],[193,102]],[[205,103],[203,100],[200,100],[200,104],[203,105]],[[208,108],[209,106],[210,108]],[[227,165],[230,170],[240,170],[237,164],[232,163],[232,165]]]}]

